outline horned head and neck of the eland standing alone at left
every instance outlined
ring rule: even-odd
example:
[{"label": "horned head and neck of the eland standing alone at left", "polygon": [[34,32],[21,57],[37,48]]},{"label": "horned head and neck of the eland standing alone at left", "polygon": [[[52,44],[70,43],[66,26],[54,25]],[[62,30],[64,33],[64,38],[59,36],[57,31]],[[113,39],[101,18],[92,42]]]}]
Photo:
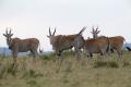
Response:
[{"label": "horned head and neck of the eland standing alone at left", "polygon": [[5,34],[3,34],[3,36],[7,38],[7,44],[8,44],[8,46],[9,46],[9,48],[11,47],[11,45],[12,45],[12,36],[13,36],[13,34],[11,33],[11,28],[10,28],[10,30],[8,32],[8,28],[5,29]]}]

